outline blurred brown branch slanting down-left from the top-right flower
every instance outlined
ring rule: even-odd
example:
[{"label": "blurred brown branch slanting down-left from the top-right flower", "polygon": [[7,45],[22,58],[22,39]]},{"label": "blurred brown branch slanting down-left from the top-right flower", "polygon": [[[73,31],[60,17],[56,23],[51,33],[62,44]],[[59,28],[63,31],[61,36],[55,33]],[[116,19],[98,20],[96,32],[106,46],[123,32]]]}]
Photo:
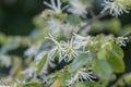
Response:
[{"label": "blurred brown branch slanting down-left from the top-right flower", "polygon": [[107,16],[107,15],[109,15],[109,12],[108,12],[108,11],[105,12],[105,13],[103,13],[103,14],[99,14],[99,15],[97,15],[97,16],[94,16],[92,20],[88,21],[88,23],[87,23],[85,26],[82,27],[82,29],[84,29],[86,26],[88,26],[88,25],[92,24],[93,22],[95,22],[95,21],[97,21],[97,20],[99,20],[99,18],[103,18],[103,17],[105,17],[105,16]]}]

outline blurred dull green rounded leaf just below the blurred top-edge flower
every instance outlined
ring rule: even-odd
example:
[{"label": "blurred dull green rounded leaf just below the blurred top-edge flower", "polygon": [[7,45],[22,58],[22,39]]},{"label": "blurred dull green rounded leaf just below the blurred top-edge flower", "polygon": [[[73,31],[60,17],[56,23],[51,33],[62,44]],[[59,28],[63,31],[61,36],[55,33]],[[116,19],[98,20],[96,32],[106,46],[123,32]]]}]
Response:
[{"label": "blurred dull green rounded leaf just below the blurred top-edge flower", "polygon": [[70,14],[67,17],[67,22],[69,22],[70,24],[73,24],[73,25],[78,25],[81,23],[81,18],[78,15]]}]

